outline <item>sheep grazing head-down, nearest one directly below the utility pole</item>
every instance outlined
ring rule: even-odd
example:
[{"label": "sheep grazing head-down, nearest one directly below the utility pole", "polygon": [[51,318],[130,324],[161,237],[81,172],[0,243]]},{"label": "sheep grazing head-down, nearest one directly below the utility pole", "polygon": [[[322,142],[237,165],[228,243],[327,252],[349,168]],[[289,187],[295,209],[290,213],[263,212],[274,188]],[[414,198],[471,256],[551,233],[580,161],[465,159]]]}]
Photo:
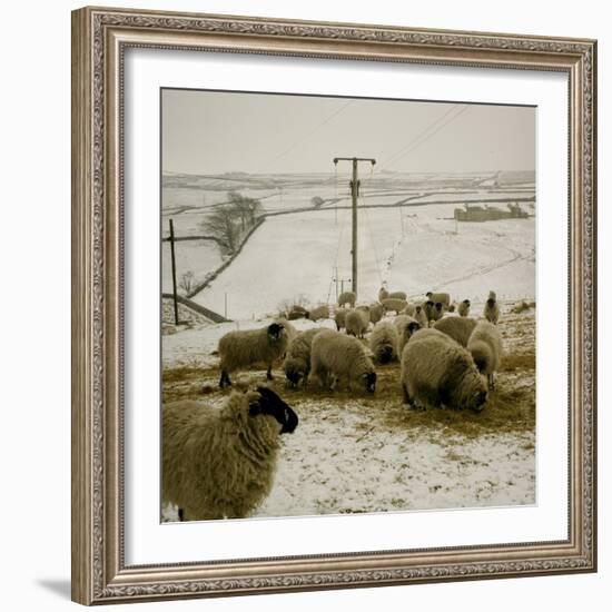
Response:
[{"label": "sheep grazing head-down, nearest one directly below the utility pole", "polygon": [[376,389],[376,372],[364,345],[332,329],[323,329],[313,339],[310,372],[322,386],[332,389],[339,379],[346,381],[348,391],[354,381],[359,381],[368,393]]}]

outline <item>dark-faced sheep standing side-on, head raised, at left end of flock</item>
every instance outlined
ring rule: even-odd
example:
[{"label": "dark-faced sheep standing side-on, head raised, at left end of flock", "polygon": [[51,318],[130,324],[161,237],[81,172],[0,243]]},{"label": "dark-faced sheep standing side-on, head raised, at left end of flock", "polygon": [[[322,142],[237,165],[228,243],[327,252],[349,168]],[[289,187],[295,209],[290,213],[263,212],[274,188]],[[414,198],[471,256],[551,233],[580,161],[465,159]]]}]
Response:
[{"label": "dark-faced sheep standing side-on, head raised, at left end of flock", "polygon": [[272,364],[283,357],[295,336],[295,328],[286,320],[277,320],[260,329],[228,332],[219,340],[221,377],[219,386],[231,385],[229,374],[254,364],[267,366],[266,376],[272,381]]}]

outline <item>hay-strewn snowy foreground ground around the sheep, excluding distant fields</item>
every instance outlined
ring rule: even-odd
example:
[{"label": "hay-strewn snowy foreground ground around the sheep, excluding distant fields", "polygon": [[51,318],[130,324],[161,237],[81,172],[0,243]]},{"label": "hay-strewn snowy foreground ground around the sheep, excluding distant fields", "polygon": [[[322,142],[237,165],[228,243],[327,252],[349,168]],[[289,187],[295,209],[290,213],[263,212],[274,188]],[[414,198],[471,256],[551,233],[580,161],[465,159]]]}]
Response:
[{"label": "hay-strewn snowy foreground ground around the sheep, excluding distant fields", "polygon": [[[256,516],[395,512],[535,503],[534,310],[511,314],[500,328],[506,355],[496,389],[481,414],[414,411],[402,403],[398,365],[381,366],[376,393],[273,387],[299,415],[282,437],[275,486]],[[330,322],[326,322],[329,325]],[[314,326],[296,322],[299,328]],[[240,327],[261,326],[247,322]],[[218,337],[236,324],[199,325],[164,336],[164,399],[220,405]],[[261,368],[235,376],[244,387]],[[176,520],[174,509],[164,511]]]}]

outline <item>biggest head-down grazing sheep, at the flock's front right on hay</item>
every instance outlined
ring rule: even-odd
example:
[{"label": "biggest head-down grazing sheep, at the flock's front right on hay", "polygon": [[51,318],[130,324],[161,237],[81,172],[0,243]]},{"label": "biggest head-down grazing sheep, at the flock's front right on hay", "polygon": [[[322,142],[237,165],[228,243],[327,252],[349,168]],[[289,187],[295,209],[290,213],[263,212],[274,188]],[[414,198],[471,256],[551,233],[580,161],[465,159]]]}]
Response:
[{"label": "biggest head-down grazing sheep, at the flock's front right on hay", "polygon": [[402,352],[404,403],[482,411],[486,381],[468,351],[437,329],[416,332]]}]

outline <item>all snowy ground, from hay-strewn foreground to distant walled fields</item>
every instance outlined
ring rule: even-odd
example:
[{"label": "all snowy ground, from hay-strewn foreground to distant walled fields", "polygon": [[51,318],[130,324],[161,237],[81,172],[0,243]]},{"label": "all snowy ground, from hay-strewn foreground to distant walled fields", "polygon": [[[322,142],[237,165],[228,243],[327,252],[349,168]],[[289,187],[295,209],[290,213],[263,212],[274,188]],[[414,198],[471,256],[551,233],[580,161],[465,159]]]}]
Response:
[{"label": "all snowy ground, from hay-strewn foreground to distant walled fields", "polygon": [[[415,298],[430,289],[447,290],[456,300],[470,298],[477,317],[494,289],[505,302],[500,329],[506,355],[486,408],[481,414],[408,409],[402,404],[397,364],[377,369],[374,396],[328,393],[316,384],[306,392],[289,391],[277,369],[273,386],[286,396],[300,423],[294,434],[283,436],[275,487],[257,516],[535,503],[535,313],[511,313],[513,302],[536,297],[535,217],[455,223],[456,204],[419,204],[423,198],[480,197],[477,179],[423,176],[409,184],[405,177],[388,181],[378,177],[369,195],[364,189],[358,211],[358,299],[376,299],[382,284]],[[522,180],[484,191],[491,197],[494,193],[504,197],[505,191],[510,199],[534,195],[529,176]],[[312,177],[284,177],[284,181],[283,196],[277,190],[261,201],[266,210],[309,207],[314,196],[335,196],[328,181],[320,186]],[[206,186],[220,191],[204,179],[198,188]],[[257,197],[256,191],[253,187],[248,195]],[[415,196],[413,206],[369,207]],[[185,235],[197,235],[205,209],[177,213],[178,205],[175,200],[166,216],[172,216]],[[189,267],[204,278],[221,261],[214,243],[177,245],[179,253],[182,249],[179,277],[186,272],[181,268]],[[206,398],[220,404],[227,392],[217,387],[218,357],[213,353],[225,333],[261,327],[282,304],[294,299],[334,304],[342,279],[345,289],[351,287],[349,277],[349,210],[324,205],[268,216],[231,265],[193,297],[217,313],[224,313],[227,300],[227,315],[234,320],[218,325],[195,320],[178,329],[165,326],[164,401]],[[167,282],[166,270],[165,286]],[[295,325],[304,329],[315,324]],[[317,325],[334,327],[332,320]],[[254,382],[264,382],[260,368],[235,376],[238,385]],[[166,509],[165,517],[176,520],[176,513]]]}]

